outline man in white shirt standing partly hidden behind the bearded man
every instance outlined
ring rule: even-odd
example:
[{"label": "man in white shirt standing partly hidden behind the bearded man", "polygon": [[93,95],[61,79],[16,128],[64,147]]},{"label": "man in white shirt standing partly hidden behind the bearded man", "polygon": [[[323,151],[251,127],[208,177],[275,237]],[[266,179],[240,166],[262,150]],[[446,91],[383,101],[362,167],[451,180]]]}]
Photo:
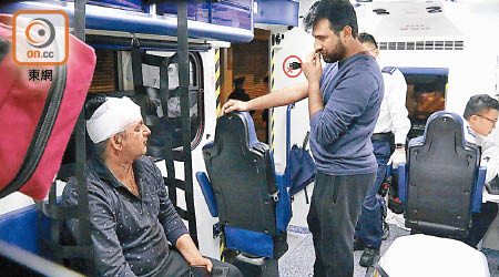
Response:
[{"label": "man in white shirt standing partly hidden behind the bearded man", "polygon": [[[374,58],[379,54],[375,38],[368,33],[360,33],[358,40],[367,52]],[[407,117],[406,92],[407,83],[403,73],[396,68],[384,68],[383,80],[385,82],[385,96],[381,102],[379,117],[371,136],[374,154],[378,163],[375,183],[364,199],[363,211],[358,218],[355,238],[355,248],[364,247],[359,264],[368,267],[373,265],[375,256],[379,253],[383,237],[381,198],[377,196],[379,186],[386,174],[387,164],[393,162],[394,167],[398,163],[405,163],[405,142],[410,130],[410,121]],[[395,136],[395,152],[390,157],[390,136]]]}]

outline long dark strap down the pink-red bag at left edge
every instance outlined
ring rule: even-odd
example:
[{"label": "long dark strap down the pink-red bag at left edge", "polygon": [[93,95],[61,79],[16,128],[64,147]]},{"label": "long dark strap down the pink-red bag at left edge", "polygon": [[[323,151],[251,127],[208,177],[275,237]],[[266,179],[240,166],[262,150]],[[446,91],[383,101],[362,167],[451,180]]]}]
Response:
[{"label": "long dark strap down the pink-red bag at left edge", "polygon": [[22,187],[33,175],[45,151],[53,125],[59,114],[62,96],[65,90],[65,79],[68,74],[67,64],[54,68],[52,84],[47,96],[45,106],[38,122],[37,129],[31,140],[24,161],[21,164],[16,177],[0,191],[0,198],[4,197]]}]

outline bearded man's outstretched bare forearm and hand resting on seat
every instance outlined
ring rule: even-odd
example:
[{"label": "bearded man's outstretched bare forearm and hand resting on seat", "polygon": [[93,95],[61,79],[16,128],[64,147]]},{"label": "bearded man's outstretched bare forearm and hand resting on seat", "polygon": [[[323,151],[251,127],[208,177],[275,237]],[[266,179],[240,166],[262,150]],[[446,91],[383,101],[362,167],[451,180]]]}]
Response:
[{"label": "bearded man's outstretched bare forearm and hand resting on seat", "polygon": [[218,116],[234,111],[264,110],[295,103],[308,95],[308,82],[284,88],[248,102],[230,100],[220,110]]}]

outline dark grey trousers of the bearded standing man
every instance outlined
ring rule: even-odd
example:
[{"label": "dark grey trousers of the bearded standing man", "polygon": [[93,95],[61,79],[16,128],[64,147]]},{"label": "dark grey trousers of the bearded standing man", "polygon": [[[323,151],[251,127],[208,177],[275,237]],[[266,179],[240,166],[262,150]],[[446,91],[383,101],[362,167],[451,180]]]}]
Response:
[{"label": "dark grey trousers of the bearded standing man", "polygon": [[314,276],[354,275],[355,225],[375,176],[317,172],[307,216],[315,249]]}]

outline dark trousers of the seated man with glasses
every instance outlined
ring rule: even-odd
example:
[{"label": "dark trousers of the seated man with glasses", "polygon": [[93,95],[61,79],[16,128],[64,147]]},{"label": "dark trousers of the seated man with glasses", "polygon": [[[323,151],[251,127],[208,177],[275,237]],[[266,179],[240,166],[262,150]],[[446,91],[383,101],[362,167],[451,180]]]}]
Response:
[{"label": "dark trousers of the seated man with glasses", "polygon": [[485,234],[496,218],[497,212],[497,203],[482,203],[480,213],[472,213],[471,215],[471,228],[469,228],[468,237],[465,238],[464,242],[471,247],[477,247],[478,243],[480,243],[480,240],[483,238]]}]

